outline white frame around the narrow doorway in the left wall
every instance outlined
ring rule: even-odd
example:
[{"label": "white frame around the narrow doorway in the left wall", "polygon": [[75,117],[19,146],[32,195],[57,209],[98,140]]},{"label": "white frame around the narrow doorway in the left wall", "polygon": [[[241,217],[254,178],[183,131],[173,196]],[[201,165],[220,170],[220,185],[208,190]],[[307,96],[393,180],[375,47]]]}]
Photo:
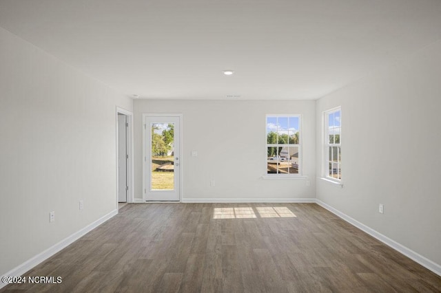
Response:
[{"label": "white frame around the narrow doorway in the left wall", "polygon": [[127,118],[127,135],[126,135],[126,147],[127,155],[129,158],[127,160],[127,186],[129,187],[127,191],[127,204],[133,202],[134,198],[134,164],[133,164],[133,113],[127,111],[123,108],[116,107],[115,113],[115,128],[116,128],[116,210],[118,210],[118,192],[119,192],[119,172],[118,172],[118,114],[123,114]]}]

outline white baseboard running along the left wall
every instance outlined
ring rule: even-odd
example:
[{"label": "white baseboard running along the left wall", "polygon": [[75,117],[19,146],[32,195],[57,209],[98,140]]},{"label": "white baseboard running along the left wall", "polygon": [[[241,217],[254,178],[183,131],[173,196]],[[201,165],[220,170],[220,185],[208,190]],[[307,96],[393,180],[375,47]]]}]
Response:
[{"label": "white baseboard running along the left wall", "polygon": [[[6,274],[3,274],[3,276],[21,276],[25,272],[28,272],[28,270],[34,268],[36,265],[39,265],[39,263],[45,261],[46,259],[52,257],[52,255],[56,254],[63,248],[68,247],[70,244],[72,244],[74,241],[80,239],[84,235],[86,235],[88,232],[94,230],[94,228],[100,226],[108,219],[114,217],[115,215],[118,215],[118,209],[112,210],[112,212],[108,213],[107,215],[104,215],[103,217],[97,219],[96,221],[92,222],[88,226],[85,226],[81,230],[74,232],[74,234],[70,235],[69,237],[59,241],[59,243],[54,244],[50,248],[44,250],[43,252],[37,254],[36,256],[32,257],[31,259],[28,259],[28,261],[25,261],[24,263],[21,263],[21,265],[17,266],[16,268],[13,268],[9,272],[6,272]],[[0,283],[0,289],[8,284]]]}]

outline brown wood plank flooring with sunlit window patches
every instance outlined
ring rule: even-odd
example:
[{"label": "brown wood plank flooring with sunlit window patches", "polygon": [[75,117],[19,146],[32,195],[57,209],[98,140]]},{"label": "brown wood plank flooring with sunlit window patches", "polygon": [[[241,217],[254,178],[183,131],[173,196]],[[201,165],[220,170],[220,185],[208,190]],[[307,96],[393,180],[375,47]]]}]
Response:
[{"label": "brown wood plank flooring with sunlit window patches", "polygon": [[441,277],[316,204],[127,204],[0,292],[441,292]]}]

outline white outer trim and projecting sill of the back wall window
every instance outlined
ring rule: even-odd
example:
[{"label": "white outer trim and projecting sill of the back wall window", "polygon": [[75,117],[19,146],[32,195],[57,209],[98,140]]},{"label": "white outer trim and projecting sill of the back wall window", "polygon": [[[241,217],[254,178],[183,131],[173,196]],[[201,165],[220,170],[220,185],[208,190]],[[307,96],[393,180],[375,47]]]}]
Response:
[{"label": "white outer trim and projecting sill of the back wall window", "polygon": [[[294,146],[298,146],[298,173],[297,174],[268,174],[267,173],[267,149],[268,149],[268,144],[267,144],[267,118],[268,117],[298,117],[299,118],[299,122],[298,122],[298,131],[300,132],[300,134],[298,135],[298,139],[300,140],[300,144],[292,144]],[[302,175],[303,174],[303,160],[302,160],[302,155],[303,155],[303,116],[302,114],[267,114],[265,116],[265,165],[264,165],[264,169],[265,173],[262,175],[262,179],[264,180],[306,180],[307,176]]]}]

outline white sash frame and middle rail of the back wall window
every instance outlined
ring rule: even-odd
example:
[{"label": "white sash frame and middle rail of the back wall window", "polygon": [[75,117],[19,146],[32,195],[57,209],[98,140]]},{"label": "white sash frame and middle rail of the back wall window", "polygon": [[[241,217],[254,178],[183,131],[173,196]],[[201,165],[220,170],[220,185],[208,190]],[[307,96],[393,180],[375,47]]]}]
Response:
[{"label": "white sash frame and middle rail of the back wall window", "polygon": [[[267,123],[268,118],[298,118],[298,144],[268,144],[267,140]],[[302,172],[303,172],[303,162],[302,162],[302,114],[266,114],[265,115],[265,175],[263,175],[263,178],[273,178],[273,179],[299,179],[302,178]],[[284,146],[295,146],[298,149],[298,173],[268,173],[268,148],[269,147],[284,147]]]}]

